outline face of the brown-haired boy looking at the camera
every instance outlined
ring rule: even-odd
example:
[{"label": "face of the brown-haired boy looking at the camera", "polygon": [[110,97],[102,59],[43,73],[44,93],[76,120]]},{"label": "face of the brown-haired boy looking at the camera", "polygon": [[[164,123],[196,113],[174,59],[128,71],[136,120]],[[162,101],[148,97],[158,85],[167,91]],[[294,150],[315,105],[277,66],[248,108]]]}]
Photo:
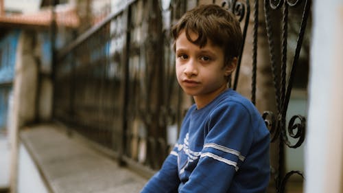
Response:
[{"label": "face of the brown-haired boy looking at the camera", "polygon": [[[196,33],[189,35],[192,40],[198,37]],[[182,30],[176,39],[175,49],[178,83],[196,102],[197,99],[211,102],[226,89],[225,76],[230,75],[235,65],[224,65],[222,48],[212,45],[209,40],[200,48],[191,43]]]}]

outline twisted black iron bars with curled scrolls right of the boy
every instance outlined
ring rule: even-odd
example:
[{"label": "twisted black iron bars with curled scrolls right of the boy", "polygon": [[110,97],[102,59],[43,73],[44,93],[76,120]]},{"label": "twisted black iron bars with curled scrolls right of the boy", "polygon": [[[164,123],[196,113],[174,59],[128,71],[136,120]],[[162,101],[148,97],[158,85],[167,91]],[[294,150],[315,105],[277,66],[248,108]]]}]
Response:
[{"label": "twisted black iron bars with curled scrolls right of the boy", "polygon": [[[283,174],[283,165],[285,159],[285,152],[283,149],[284,144],[287,145],[289,148],[298,148],[303,144],[305,140],[305,117],[302,115],[295,115],[289,120],[288,127],[286,130],[286,113],[287,107],[289,104],[290,94],[292,92],[292,84],[295,76],[296,67],[298,65],[298,58],[300,54],[300,48],[303,43],[303,38],[305,35],[305,27],[307,24],[307,19],[309,17],[309,8],[310,8],[310,1],[306,0],[305,5],[303,8],[303,17],[300,24],[300,30],[298,32],[298,40],[296,43],[296,49],[294,58],[292,60],[292,66],[289,74],[288,81],[287,74],[286,74],[286,67],[287,67],[287,25],[288,25],[288,14],[289,8],[295,8],[296,6],[300,5],[302,1],[288,1],[288,0],[265,0],[264,1],[264,11],[265,11],[265,23],[267,26],[267,34],[268,34],[268,44],[270,49],[270,63],[272,68],[273,74],[273,83],[274,89],[276,93],[276,107],[277,107],[277,115],[270,111],[266,111],[263,113],[263,118],[265,123],[267,124],[268,128],[270,129],[270,133],[272,135],[272,141],[276,141],[279,139],[279,166],[276,171],[274,171],[275,180],[276,180],[276,191],[277,192],[285,192],[285,184],[287,183],[289,177],[294,174],[298,174],[303,177],[303,174],[300,171],[290,171],[286,174]],[[282,48],[281,48],[281,67],[280,72],[278,71],[279,66],[275,60],[275,52],[276,49],[274,47],[273,41],[273,28],[272,28],[272,21],[271,21],[271,11],[272,10],[279,10],[283,8],[282,12]],[[288,134],[287,134],[288,133]],[[289,137],[297,140],[295,144],[292,144],[289,141]]]}]

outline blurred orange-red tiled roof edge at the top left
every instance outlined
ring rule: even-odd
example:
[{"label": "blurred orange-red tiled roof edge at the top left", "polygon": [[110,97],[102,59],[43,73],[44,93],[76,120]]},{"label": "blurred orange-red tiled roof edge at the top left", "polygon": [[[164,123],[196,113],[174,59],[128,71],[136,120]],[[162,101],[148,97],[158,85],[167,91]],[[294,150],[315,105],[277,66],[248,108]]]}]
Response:
[{"label": "blurred orange-red tiled roof edge at the top left", "polygon": [[[40,10],[30,14],[12,14],[0,16],[1,25],[33,25],[36,27],[49,27],[51,25],[51,9]],[[75,8],[67,7],[56,10],[56,23],[58,26],[78,27],[80,19]]]}]

